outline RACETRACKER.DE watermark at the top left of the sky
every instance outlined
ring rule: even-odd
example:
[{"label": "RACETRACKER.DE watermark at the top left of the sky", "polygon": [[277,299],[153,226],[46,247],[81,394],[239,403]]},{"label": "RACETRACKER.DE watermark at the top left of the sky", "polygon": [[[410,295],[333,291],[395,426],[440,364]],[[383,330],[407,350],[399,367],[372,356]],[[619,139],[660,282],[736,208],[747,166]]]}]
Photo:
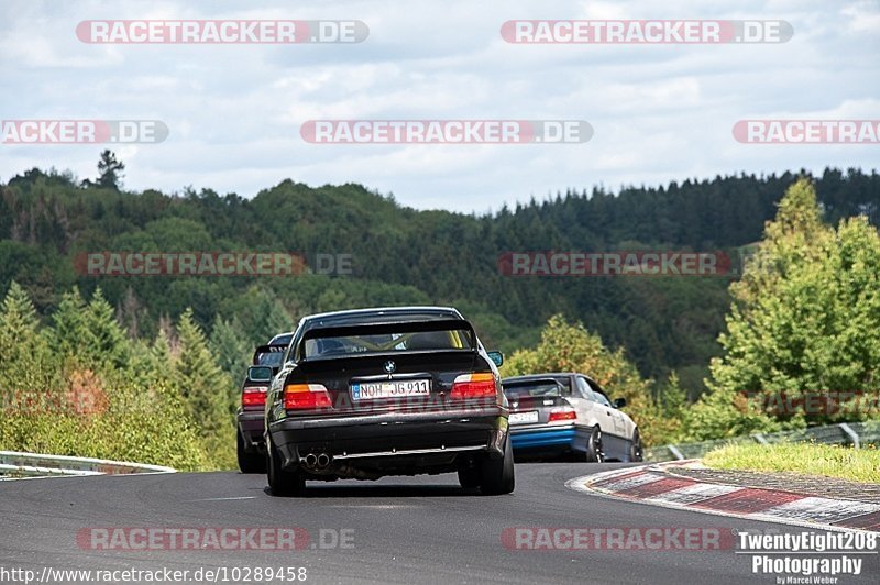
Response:
[{"label": "RACETRACKER.DE watermark at the top left of the sky", "polygon": [[360,20],[86,20],[76,36],[88,44],[362,43]]}]

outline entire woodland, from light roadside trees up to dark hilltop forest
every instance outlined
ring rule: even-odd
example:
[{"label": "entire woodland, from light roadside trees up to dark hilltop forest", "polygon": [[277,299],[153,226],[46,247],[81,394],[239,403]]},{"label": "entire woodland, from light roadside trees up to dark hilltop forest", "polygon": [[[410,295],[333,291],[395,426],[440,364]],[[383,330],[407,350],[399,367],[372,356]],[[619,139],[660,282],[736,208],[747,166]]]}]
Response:
[{"label": "entire woodland, from light roadside trees up to dark hilltop forest", "polygon": [[[761,407],[877,391],[876,173],[596,188],[468,216],[360,185],[131,192],[122,168],[106,152],[97,180],[32,169],[0,187],[0,446],[232,467],[254,346],[304,314],[393,305],[458,307],[508,354],[503,375],[591,374],[627,398],[647,444],[877,416]],[[499,264],[510,252],[645,250],[732,263],[588,277],[512,277]],[[84,255],[108,253],[301,263],[280,276],[84,269]]]}]

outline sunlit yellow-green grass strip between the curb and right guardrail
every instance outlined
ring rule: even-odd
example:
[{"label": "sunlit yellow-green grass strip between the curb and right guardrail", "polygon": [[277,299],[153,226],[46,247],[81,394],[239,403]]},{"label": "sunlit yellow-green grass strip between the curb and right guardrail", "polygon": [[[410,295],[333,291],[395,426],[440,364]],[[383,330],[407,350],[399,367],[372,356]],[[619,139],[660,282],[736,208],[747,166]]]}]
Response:
[{"label": "sunlit yellow-green grass strip between the curb and right guardrail", "polygon": [[880,483],[880,451],[818,443],[732,444],[711,451],[703,464],[716,470],[783,472]]}]

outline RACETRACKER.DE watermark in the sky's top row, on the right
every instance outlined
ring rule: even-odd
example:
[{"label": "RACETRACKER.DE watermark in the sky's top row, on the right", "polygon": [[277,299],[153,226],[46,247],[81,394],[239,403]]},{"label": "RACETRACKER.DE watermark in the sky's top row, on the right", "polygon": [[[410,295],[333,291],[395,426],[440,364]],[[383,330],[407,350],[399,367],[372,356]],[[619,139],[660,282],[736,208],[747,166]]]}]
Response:
[{"label": "RACETRACKER.DE watermark in the sky's top row, on the right", "polygon": [[784,20],[508,20],[502,38],[513,44],[787,43]]}]

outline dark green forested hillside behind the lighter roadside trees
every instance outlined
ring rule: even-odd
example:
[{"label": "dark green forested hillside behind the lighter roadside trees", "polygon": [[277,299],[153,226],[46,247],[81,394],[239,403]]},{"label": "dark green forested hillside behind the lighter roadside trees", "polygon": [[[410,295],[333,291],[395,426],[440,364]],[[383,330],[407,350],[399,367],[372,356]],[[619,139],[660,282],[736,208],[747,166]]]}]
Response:
[{"label": "dark green forested hillside behind the lighter roadside trees", "polygon": [[[692,399],[721,354],[728,286],[785,189],[804,175],[593,187],[476,216],[415,210],[361,185],[285,180],[250,199],[209,189],[132,192],[118,177],[124,165],[108,158],[96,180],[34,168],[0,185],[0,290],[15,280],[43,319],[72,287],[86,297],[100,287],[130,336],[152,339],[191,308],[207,334],[253,346],[315,311],[440,303],[460,308],[487,345],[510,352],[537,343],[560,313],[623,349],[642,376],[676,372]],[[828,223],[880,220],[877,172],[828,168],[814,179]],[[638,250],[723,251],[730,269],[689,277],[510,277],[499,269],[510,252]],[[77,269],[82,254],[123,251],[288,252],[306,269],[290,277]],[[321,260],[338,257],[345,269]]]}]

